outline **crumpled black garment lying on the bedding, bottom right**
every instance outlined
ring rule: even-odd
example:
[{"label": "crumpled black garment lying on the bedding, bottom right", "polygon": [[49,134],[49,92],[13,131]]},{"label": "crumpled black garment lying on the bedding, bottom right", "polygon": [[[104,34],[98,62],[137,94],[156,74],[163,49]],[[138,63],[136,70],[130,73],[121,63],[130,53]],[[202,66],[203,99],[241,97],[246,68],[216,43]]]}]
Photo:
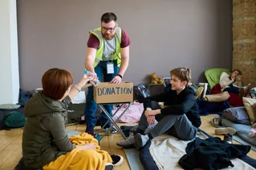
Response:
[{"label": "crumpled black garment lying on the bedding, bottom right", "polygon": [[179,164],[185,170],[194,168],[217,170],[229,166],[234,167],[230,158],[246,156],[250,152],[250,146],[229,144],[218,137],[210,137],[206,140],[197,137],[189,142],[185,152],[187,154],[179,160]]}]

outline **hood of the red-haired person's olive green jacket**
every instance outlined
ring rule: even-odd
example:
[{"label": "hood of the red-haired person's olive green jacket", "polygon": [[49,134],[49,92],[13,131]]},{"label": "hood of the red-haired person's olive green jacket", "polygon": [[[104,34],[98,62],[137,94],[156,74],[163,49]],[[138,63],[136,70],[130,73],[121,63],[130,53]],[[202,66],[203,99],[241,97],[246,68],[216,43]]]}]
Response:
[{"label": "hood of the red-haired person's olive green jacket", "polygon": [[40,91],[27,101],[24,111],[26,117],[35,117],[46,113],[65,112],[67,111],[67,105],[61,101],[47,97],[43,94],[43,91]]}]

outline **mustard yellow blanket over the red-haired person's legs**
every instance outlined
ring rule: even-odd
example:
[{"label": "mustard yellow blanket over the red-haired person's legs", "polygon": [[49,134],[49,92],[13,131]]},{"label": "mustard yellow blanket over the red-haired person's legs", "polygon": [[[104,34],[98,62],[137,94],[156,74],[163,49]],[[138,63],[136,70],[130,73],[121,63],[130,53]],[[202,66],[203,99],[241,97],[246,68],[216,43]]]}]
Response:
[{"label": "mustard yellow blanket over the red-haired person's legs", "polygon": [[78,135],[70,137],[71,143],[75,145],[83,145],[94,143],[95,150],[75,148],[66,155],[59,156],[56,160],[52,161],[43,167],[44,170],[77,170],[77,169],[95,169],[104,170],[106,163],[111,163],[112,158],[108,152],[100,150],[98,140],[93,136],[82,132]]}]

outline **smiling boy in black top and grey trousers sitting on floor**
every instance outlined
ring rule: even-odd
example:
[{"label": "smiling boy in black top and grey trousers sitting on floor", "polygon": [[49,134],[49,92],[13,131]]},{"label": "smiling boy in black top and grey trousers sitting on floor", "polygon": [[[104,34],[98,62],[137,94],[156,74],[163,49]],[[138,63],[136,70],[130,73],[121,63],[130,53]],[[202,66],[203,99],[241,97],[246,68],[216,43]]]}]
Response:
[{"label": "smiling boy in black top and grey trousers sitting on floor", "polygon": [[[126,147],[132,143],[137,149],[144,147],[148,140],[167,132],[180,140],[193,140],[197,128],[201,125],[197,101],[193,89],[188,86],[191,71],[186,68],[173,69],[170,72],[172,81],[168,92],[147,97],[144,100],[144,113],[140,117],[136,134],[133,138],[118,142],[117,145]],[[157,102],[168,103],[165,108]],[[158,121],[148,134],[144,134],[148,125]]]}]

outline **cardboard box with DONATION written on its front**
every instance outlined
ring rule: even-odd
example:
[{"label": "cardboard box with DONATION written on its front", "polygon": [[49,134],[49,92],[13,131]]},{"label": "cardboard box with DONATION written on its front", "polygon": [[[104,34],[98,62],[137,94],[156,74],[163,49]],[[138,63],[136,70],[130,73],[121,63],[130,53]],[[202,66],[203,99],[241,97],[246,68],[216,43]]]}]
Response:
[{"label": "cardboard box with DONATION written on its front", "polygon": [[133,83],[109,84],[102,82],[94,88],[94,100],[98,104],[133,101]]}]

